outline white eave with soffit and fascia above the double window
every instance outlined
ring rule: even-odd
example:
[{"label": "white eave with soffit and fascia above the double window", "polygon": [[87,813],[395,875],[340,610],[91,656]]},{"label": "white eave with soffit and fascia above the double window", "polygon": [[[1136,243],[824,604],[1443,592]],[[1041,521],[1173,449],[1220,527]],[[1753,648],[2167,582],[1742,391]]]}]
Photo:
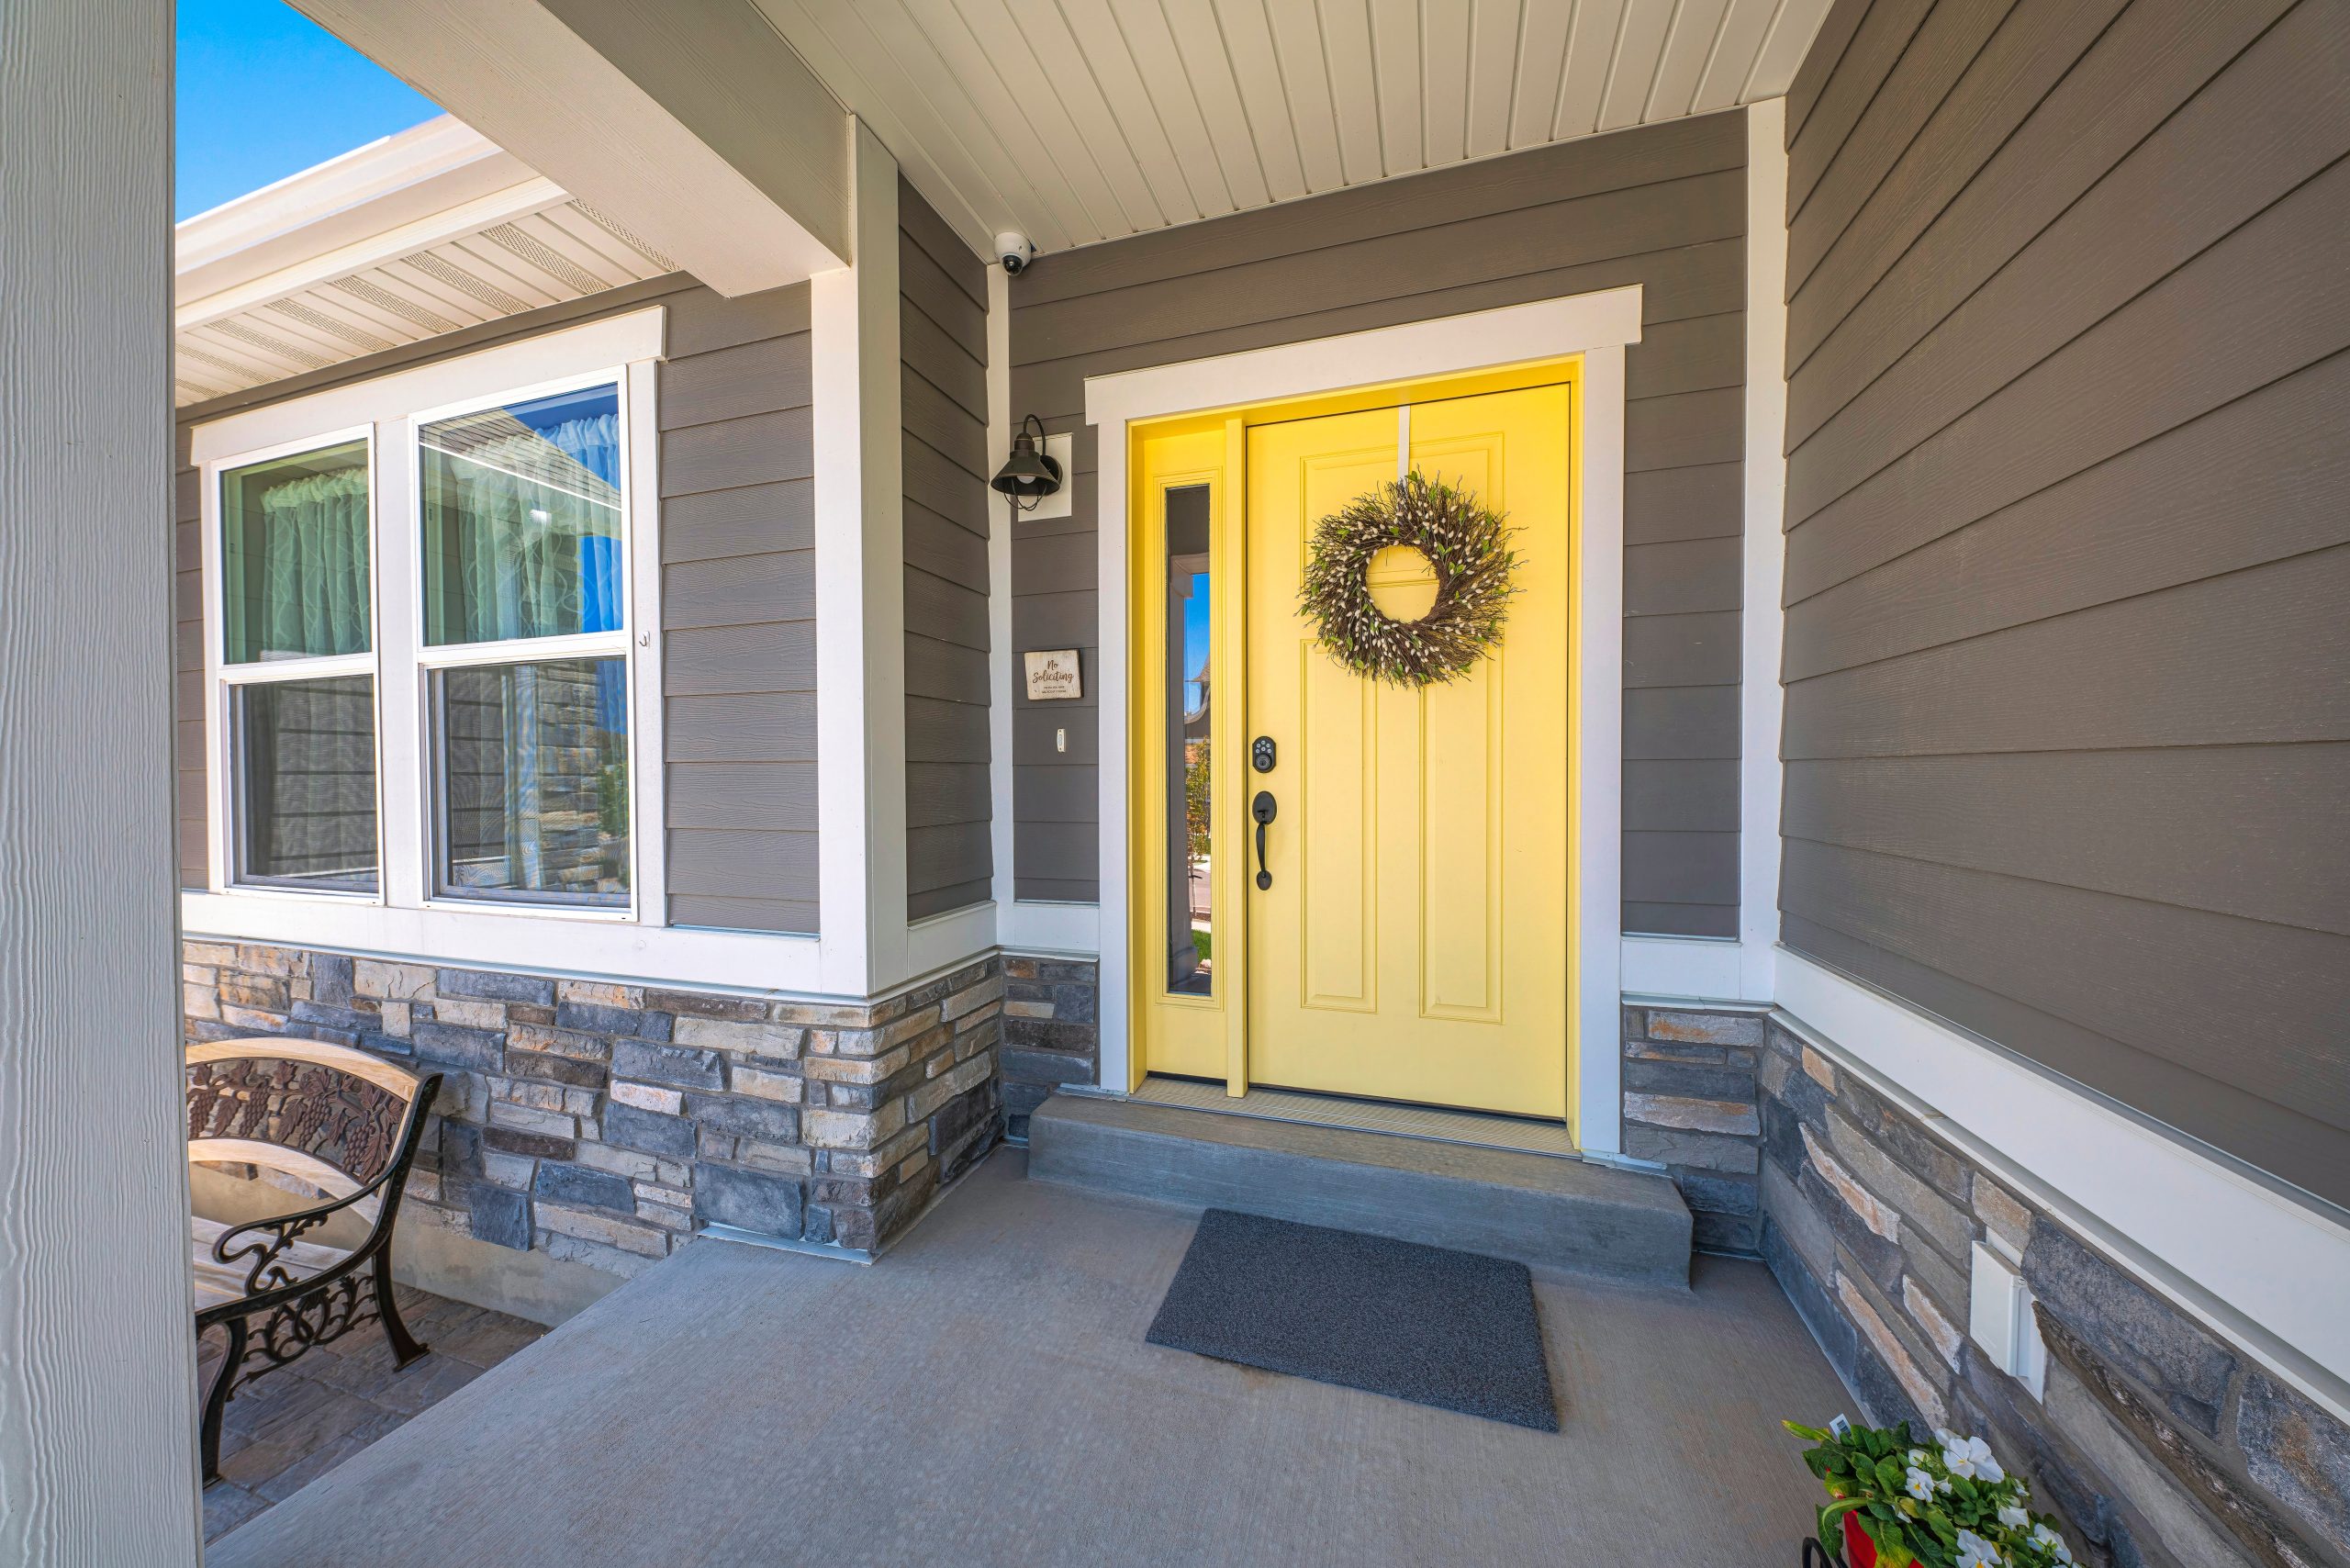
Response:
[{"label": "white eave with soffit and fascia above the double window", "polygon": [[449,115],[174,237],[174,407],[677,270]]}]

